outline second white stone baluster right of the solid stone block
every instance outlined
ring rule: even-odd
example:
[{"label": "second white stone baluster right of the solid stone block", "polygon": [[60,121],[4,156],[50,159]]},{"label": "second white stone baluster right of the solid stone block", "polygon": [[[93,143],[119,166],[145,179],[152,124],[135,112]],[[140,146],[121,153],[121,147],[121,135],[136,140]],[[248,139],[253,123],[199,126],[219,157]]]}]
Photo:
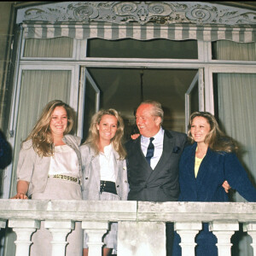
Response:
[{"label": "second white stone baluster right of the solid stone block", "polygon": [[217,237],[218,256],[231,256],[231,236],[239,230],[236,220],[212,221],[209,223],[209,230]]}]

